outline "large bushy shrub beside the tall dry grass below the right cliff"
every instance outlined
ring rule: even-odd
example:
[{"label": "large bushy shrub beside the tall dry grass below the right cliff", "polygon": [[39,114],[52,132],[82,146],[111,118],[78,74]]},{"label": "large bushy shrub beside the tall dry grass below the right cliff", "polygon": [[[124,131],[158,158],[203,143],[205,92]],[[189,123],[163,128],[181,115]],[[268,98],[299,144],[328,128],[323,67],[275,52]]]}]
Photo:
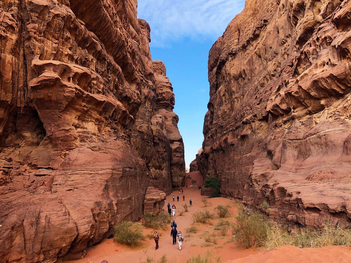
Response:
[{"label": "large bushy shrub beside the tall dry grass below the right cliff", "polygon": [[236,235],[237,243],[246,248],[260,246],[267,236],[267,225],[258,212],[245,214],[243,205],[240,205],[232,233]]}]

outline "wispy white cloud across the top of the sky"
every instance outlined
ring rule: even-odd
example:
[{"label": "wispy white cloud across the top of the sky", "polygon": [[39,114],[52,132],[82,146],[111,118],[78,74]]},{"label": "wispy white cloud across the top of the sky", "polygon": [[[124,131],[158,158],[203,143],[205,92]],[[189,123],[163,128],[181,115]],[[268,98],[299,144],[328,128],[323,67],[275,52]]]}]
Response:
[{"label": "wispy white cloud across the top of the sky", "polygon": [[244,7],[244,0],[139,0],[138,18],[151,27],[151,45],[184,38],[217,39]]}]

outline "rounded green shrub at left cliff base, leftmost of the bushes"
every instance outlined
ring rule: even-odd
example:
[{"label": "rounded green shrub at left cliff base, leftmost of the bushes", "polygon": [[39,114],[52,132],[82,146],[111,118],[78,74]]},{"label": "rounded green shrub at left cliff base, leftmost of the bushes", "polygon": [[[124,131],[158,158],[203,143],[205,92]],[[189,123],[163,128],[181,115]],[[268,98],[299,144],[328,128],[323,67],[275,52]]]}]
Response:
[{"label": "rounded green shrub at left cliff base, leftmost of the bushes", "polygon": [[141,228],[137,223],[125,221],[113,228],[113,240],[120,243],[130,245],[132,247],[139,245],[140,240],[144,240],[145,236],[141,232]]}]

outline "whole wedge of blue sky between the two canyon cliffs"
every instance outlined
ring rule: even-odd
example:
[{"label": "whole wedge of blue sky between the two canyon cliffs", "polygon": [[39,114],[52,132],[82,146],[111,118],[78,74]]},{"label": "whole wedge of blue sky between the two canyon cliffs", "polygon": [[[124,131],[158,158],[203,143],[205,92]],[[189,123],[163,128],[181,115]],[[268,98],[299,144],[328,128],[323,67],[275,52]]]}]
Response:
[{"label": "whole wedge of blue sky between the two canyon cliffs", "polygon": [[176,96],[174,112],[183,137],[186,167],[204,139],[202,130],[209,100],[208,51],[244,0],[139,0],[138,18],[151,27],[151,56],[166,65]]}]

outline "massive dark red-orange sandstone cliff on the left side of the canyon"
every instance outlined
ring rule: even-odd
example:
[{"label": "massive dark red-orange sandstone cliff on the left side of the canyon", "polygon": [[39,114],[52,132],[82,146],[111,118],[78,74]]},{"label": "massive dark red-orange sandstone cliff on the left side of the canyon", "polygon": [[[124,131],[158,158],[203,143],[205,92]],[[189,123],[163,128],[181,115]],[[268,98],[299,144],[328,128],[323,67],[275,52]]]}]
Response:
[{"label": "massive dark red-orange sandstone cliff on the left side of the canyon", "polygon": [[1,263],[80,257],[143,215],[147,187],[181,187],[174,94],[136,7],[0,1]]}]

